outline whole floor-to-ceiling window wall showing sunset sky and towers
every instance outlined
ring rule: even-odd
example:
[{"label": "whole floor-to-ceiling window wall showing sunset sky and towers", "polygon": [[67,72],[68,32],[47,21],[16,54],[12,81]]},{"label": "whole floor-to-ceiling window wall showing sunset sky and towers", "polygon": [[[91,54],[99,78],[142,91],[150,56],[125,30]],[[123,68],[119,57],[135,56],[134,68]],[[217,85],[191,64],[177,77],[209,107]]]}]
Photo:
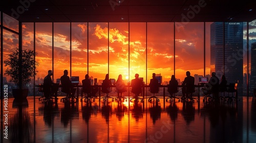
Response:
[{"label": "whole floor-to-ceiling window wall showing sunset sky and towers", "polygon": [[[18,47],[17,33],[10,32],[18,32],[18,21],[3,16],[3,26],[10,29],[3,32],[5,60]],[[250,93],[255,88],[254,25],[255,21],[248,26],[245,22],[74,22],[35,23],[34,28],[34,23],[22,23],[22,47],[33,50],[35,42],[39,63],[35,84],[43,82],[49,69],[54,71],[54,82],[68,69],[69,76],[79,76],[80,81],[89,74],[101,84],[106,74],[112,79],[121,74],[127,83],[139,74],[147,85],[153,73],[166,85],[174,74],[181,83],[190,71],[198,84],[199,76],[210,77],[215,71],[220,79],[225,74],[228,84],[239,83],[239,94],[245,95],[247,87]]]}]

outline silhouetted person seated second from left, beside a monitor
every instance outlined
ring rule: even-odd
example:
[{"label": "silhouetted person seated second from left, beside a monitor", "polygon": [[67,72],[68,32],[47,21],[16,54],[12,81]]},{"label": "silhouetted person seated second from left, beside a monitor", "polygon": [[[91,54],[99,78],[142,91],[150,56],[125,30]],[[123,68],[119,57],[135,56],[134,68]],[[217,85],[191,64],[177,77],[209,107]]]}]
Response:
[{"label": "silhouetted person seated second from left, beside a monitor", "polygon": [[67,93],[67,97],[74,98],[76,88],[73,87],[73,84],[68,76],[68,70],[64,70],[64,75],[60,77],[61,82],[61,92]]}]

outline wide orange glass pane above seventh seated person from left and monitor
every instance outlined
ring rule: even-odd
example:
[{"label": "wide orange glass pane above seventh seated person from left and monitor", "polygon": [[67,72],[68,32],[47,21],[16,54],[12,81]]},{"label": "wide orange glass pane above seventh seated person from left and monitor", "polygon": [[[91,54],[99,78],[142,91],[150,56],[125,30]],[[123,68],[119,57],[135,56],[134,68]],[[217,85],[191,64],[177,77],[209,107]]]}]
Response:
[{"label": "wide orange glass pane above seventh seated person from left and monitor", "polygon": [[147,85],[153,73],[162,77],[162,85],[167,85],[174,75],[173,22],[147,23]]}]

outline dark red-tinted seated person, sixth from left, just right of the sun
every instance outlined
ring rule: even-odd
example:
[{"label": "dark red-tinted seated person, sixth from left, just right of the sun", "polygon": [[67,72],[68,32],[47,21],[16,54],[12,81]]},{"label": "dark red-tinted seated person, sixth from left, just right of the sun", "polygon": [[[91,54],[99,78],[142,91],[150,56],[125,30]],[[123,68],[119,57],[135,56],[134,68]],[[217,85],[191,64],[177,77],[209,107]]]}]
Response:
[{"label": "dark red-tinted seated person, sixth from left, just right of the sun", "polygon": [[[142,85],[143,85],[143,82],[141,79],[139,79],[139,74],[135,74],[135,79],[133,79],[131,81],[131,86],[132,86],[132,93],[135,94],[135,101],[138,101],[138,97],[139,97],[139,94],[142,92]],[[133,98],[132,98],[133,99]],[[137,102],[135,102],[137,103]]]}]

